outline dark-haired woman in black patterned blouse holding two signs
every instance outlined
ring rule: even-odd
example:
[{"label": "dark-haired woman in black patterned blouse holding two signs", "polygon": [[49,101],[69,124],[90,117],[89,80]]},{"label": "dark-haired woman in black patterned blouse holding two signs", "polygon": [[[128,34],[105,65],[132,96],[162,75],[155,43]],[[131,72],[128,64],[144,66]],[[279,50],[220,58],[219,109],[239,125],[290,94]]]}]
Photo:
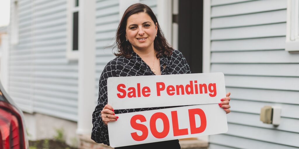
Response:
[{"label": "dark-haired woman in black patterned blouse holding two signs", "polygon": [[[152,10],[144,4],[133,4],[127,8],[118,26],[116,43],[118,53],[107,63],[100,77],[98,105],[92,115],[91,139],[109,145],[107,123],[117,121],[115,114],[146,111],[170,107],[136,108],[114,110],[107,104],[108,77],[188,74],[189,65],[181,52],[174,50],[164,38],[158,20]],[[229,100],[222,98],[219,106],[226,113]],[[120,148],[180,148],[178,140],[132,145]]]}]

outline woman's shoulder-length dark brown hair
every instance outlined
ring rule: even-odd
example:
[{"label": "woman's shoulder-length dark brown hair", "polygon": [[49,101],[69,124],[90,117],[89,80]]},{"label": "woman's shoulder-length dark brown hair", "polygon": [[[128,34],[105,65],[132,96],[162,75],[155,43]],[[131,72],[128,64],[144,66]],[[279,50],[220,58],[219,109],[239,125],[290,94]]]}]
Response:
[{"label": "woman's shoulder-length dark brown hair", "polygon": [[112,46],[118,46],[118,53],[114,53],[116,56],[124,56],[126,58],[131,58],[133,52],[132,45],[129,41],[126,41],[126,25],[129,16],[136,13],[147,13],[154,24],[158,24],[157,37],[154,40],[154,49],[156,51],[156,57],[159,58],[161,55],[172,55],[173,48],[168,44],[167,40],[164,37],[163,32],[160,30],[160,26],[157,20],[157,17],[152,12],[152,10],[145,4],[137,3],[132,4],[128,7],[121,18],[121,21],[118,25],[116,31],[116,41]]}]

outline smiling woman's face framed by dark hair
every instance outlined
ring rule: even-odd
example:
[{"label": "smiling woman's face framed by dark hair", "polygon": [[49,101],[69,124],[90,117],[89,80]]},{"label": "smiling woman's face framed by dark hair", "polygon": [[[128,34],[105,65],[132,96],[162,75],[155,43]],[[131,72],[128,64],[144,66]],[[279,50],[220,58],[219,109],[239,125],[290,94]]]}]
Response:
[{"label": "smiling woman's face framed by dark hair", "polygon": [[157,31],[157,23],[155,24],[147,13],[136,13],[127,20],[126,39],[132,44],[133,49],[154,49]]}]

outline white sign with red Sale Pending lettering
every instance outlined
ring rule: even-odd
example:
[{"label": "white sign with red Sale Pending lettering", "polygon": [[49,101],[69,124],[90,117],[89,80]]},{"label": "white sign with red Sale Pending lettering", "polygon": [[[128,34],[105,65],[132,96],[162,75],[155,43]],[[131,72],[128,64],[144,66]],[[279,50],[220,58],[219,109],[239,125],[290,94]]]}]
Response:
[{"label": "white sign with red Sale Pending lettering", "polygon": [[109,77],[108,104],[114,109],[219,103],[224,75],[217,73]]}]

